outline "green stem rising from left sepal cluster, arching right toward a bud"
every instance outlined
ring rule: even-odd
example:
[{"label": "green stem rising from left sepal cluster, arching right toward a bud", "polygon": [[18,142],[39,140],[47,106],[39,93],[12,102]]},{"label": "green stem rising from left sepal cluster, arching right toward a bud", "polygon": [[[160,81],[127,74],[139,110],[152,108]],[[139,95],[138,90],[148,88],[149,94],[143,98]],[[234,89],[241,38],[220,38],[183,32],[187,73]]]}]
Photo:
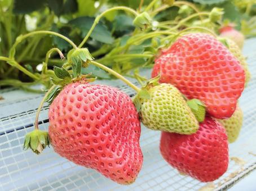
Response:
[{"label": "green stem rising from left sepal cluster, arching right toward a bud", "polygon": [[94,30],[95,26],[98,24],[98,22],[100,21],[101,17],[103,17],[106,13],[109,13],[111,11],[117,11],[117,10],[123,10],[123,11],[127,11],[132,13],[135,16],[138,16],[138,13],[136,11],[134,11],[132,8],[129,7],[125,7],[125,6],[118,6],[118,7],[113,7],[113,8],[109,8],[109,10],[106,10],[104,12],[102,12],[100,15],[98,15],[95,20],[94,23],[91,26],[91,29],[89,30],[89,32],[86,34],[85,38],[83,38],[83,41],[80,43],[80,45],[78,46],[78,48],[81,48],[83,46],[83,44],[86,43],[86,40],[90,37],[92,31]]}]

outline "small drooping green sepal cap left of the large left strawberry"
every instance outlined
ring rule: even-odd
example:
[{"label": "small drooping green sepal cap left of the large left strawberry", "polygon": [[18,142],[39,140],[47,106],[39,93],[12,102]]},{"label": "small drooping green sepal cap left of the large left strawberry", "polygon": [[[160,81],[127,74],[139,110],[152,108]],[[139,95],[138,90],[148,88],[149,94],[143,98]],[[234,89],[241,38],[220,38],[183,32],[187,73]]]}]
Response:
[{"label": "small drooping green sepal cap left of the large left strawberry", "polygon": [[40,154],[46,146],[50,145],[50,140],[48,137],[48,132],[41,130],[33,130],[28,133],[25,137],[23,149],[28,148],[36,154]]}]

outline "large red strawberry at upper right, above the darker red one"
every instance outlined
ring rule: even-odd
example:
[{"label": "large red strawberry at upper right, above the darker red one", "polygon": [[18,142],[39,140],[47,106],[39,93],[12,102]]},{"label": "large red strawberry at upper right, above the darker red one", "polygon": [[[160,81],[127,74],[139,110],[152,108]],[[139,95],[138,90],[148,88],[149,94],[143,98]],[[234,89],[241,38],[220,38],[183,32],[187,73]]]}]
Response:
[{"label": "large red strawberry at upper right, above the darker red one", "polygon": [[192,33],[176,40],[155,60],[152,77],[175,85],[188,99],[200,99],[211,116],[231,117],[244,90],[245,72],[217,39]]}]

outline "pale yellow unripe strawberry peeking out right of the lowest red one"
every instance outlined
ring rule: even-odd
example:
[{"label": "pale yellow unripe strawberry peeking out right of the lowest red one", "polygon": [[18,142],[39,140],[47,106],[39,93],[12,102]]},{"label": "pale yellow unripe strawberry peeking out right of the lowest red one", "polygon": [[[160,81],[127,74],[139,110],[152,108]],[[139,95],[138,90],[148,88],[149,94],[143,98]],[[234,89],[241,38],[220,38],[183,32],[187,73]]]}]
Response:
[{"label": "pale yellow unripe strawberry peeking out right of the lowest red one", "polygon": [[242,127],[243,113],[241,108],[236,106],[236,111],[231,117],[224,120],[218,120],[226,129],[228,135],[228,142],[233,143],[236,141],[239,136],[241,127]]}]

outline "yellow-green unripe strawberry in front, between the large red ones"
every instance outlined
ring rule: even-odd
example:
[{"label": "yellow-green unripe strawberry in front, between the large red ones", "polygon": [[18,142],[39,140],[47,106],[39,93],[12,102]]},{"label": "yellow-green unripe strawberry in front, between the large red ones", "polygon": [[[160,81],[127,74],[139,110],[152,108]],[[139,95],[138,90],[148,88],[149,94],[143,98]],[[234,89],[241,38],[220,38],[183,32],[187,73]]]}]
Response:
[{"label": "yellow-green unripe strawberry in front, between the large red ones", "polygon": [[171,84],[148,86],[149,98],[140,99],[140,118],[153,130],[193,134],[198,122],[177,88]]}]

